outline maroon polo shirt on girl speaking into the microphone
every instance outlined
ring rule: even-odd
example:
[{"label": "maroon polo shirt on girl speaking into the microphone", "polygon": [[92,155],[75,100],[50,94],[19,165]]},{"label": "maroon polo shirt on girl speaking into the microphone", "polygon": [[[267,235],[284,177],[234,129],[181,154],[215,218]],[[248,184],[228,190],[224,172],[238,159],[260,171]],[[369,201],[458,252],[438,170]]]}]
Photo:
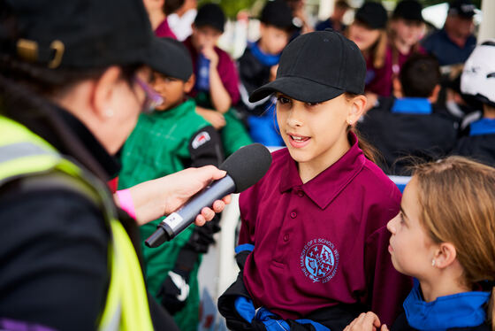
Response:
[{"label": "maroon polo shirt on girl speaking into the microphone", "polygon": [[240,194],[239,243],[255,245],[244,282],[256,306],[284,319],[361,303],[391,325],[412,287],[388,253],[400,191],[350,138],[351,149],[305,184],[288,150],[273,152],[268,173]]}]

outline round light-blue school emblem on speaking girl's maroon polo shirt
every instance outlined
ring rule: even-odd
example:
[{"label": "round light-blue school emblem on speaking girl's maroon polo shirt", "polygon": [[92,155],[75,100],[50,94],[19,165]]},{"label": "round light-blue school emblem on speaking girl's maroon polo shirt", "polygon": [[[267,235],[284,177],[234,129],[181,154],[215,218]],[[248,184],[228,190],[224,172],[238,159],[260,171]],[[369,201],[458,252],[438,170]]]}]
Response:
[{"label": "round light-blue school emblem on speaking girl's maroon polo shirt", "polygon": [[302,273],[311,281],[330,281],[337,273],[339,266],[339,251],[335,249],[333,243],[318,238],[310,240],[301,252]]}]

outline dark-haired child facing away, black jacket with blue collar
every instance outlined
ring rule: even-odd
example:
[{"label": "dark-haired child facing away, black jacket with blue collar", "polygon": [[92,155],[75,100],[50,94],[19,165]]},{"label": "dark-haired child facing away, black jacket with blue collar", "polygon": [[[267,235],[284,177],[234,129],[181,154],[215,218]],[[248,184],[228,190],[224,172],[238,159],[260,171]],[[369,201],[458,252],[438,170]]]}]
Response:
[{"label": "dark-haired child facing away, black jacket with blue collar", "polygon": [[[385,173],[408,175],[408,156],[443,158],[453,149],[458,120],[436,106],[440,90],[436,58],[416,54],[394,79],[395,97],[378,98],[358,123],[359,132],[377,147],[385,160]],[[409,158],[410,159],[410,158]]]}]

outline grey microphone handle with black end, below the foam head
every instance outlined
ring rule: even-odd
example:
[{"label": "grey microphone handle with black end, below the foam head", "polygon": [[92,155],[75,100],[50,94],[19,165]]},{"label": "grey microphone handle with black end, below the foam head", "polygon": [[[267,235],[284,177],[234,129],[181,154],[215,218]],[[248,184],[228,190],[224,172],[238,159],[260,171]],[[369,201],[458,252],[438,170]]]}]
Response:
[{"label": "grey microphone handle with black end, below the foam head", "polygon": [[162,243],[170,241],[189,227],[204,207],[211,207],[216,200],[234,191],[235,182],[228,174],[224,178],[214,181],[209,187],[196,193],[179,211],[172,212],[160,222],[156,231],[149,236],[145,244],[148,247],[158,247]]}]

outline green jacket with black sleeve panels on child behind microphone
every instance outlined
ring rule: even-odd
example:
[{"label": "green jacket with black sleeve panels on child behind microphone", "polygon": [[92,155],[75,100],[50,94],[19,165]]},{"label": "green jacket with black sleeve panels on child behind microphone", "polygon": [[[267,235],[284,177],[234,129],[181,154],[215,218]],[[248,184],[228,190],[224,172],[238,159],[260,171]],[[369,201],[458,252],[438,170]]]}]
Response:
[{"label": "green jacket with black sleeve panels on child behind microphone", "polygon": [[[141,114],[121,153],[118,189],[176,173],[188,166],[219,165],[222,160],[217,131],[195,112],[194,100],[190,99],[168,111]],[[141,226],[143,243],[162,219]],[[189,240],[193,229],[194,226],[188,227],[171,242],[165,242],[158,248],[148,248],[142,244],[147,288],[159,302],[158,291],[167,273],[174,268],[179,251]],[[190,273],[186,307],[174,316],[181,330],[195,331],[197,328],[199,265],[200,260]]]}]

